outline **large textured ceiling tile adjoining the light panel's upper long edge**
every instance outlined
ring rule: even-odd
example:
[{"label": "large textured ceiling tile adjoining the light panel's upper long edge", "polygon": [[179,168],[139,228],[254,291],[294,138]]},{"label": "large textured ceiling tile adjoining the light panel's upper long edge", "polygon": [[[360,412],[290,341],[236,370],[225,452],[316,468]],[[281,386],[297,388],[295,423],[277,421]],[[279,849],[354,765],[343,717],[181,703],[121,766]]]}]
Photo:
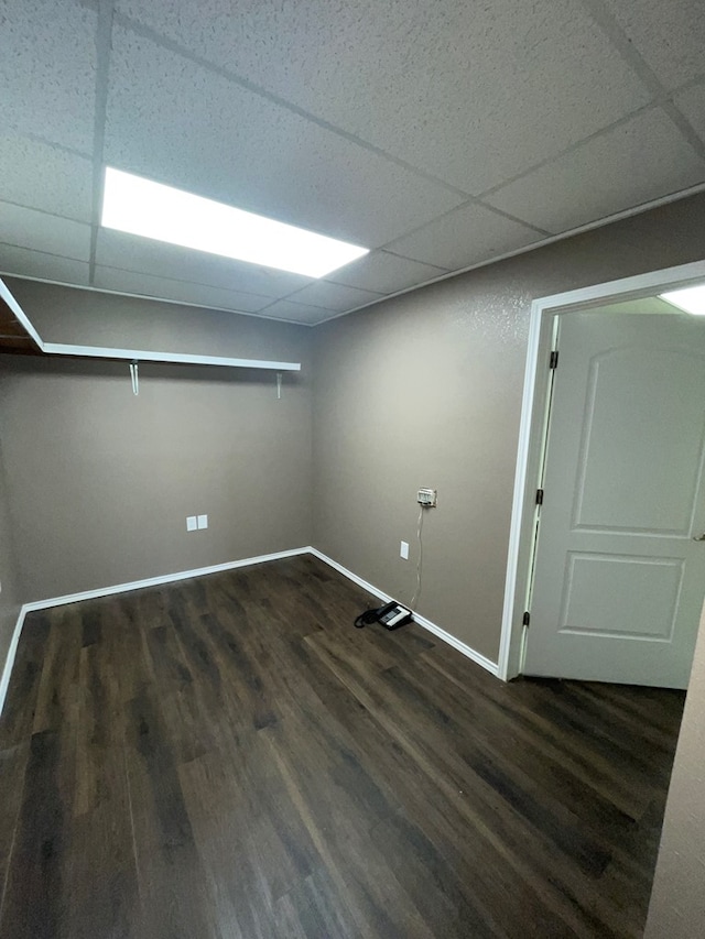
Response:
[{"label": "large textured ceiling tile adjoining the light panel's upper long edge", "polygon": [[459,201],[120,29],[105,152],[119,168],[369,248]]}]

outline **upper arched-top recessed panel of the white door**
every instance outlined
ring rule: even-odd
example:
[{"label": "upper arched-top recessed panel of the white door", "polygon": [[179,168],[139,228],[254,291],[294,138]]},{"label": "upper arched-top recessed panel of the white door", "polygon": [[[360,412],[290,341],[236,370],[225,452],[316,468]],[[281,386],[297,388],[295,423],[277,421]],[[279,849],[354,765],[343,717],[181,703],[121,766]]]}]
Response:
[{"label": "upper arched-top recessed panel of the white door", "polygon": [[682,432],[702,423],[702,390],[703,359],[688,351],[632,347],[592,358],[575,528],[690,532],[705,440]]}]

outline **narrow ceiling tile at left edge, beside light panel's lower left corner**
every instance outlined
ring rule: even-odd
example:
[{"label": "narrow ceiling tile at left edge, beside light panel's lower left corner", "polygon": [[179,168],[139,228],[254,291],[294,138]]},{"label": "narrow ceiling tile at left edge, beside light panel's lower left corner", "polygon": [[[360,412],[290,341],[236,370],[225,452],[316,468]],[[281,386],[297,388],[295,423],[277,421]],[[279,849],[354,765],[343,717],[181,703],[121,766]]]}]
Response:
[{"label": "narrow ceiling tile at left edge, beside light panel's lower left corner", "polygon": [[88,261],[90,226],[24,206],[0,203],[0,241]]}]

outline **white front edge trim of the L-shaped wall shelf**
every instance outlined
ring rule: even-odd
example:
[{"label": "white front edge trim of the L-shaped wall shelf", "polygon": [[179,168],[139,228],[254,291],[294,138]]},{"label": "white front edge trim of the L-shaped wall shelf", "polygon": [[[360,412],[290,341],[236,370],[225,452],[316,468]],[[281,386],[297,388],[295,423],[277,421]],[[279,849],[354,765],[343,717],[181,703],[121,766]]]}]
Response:
[{"label": "white front edge trim of the L-shaped wall shelf", "polygon": [[74,346],[65,342],[45,342],[29,316],[0,277],[0,297],[24,326],[40,351],[47,356],[86,356],[91,359],[124,359],[139,362],[176,362],[188,365],[224,365],[232,369],[271,369],[276,372],[300,372],[301,362],[271,362],[265,359],[232,359],[224,356],[192,356],[184,352],[147,352],[141,349],[113,349],[102,346]]}]

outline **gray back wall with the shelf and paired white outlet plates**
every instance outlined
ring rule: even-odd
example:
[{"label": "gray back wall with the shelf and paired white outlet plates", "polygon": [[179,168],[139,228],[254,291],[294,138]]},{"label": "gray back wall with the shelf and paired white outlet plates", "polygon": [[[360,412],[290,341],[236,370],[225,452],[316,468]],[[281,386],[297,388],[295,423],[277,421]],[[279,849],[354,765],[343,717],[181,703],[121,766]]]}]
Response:
[{"label": "gray back wall with the shelf and paired white outlet plates", "polygon": [[[2,357],[23,597],[311,543],[310,329],[26,282],[11,290],[44,339],[302,362],[279,401],[273,372],[145,363],[135,397],[127,363]],[[186,515],[199,513],[209,528],[187,534]]]}]

